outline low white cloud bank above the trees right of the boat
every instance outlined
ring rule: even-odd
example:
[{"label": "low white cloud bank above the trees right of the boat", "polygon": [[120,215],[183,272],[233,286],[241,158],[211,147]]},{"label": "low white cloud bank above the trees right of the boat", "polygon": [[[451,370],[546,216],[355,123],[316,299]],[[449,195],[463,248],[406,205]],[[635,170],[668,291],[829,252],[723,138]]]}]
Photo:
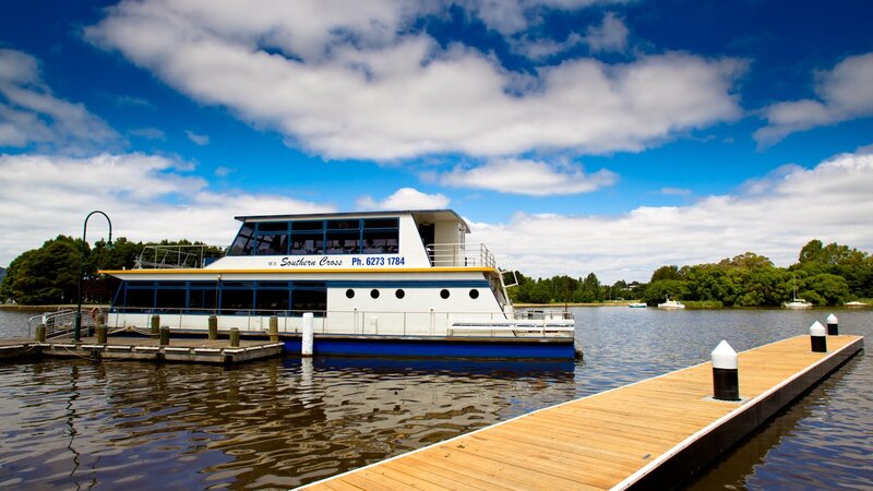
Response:
[{"label": "low white cloud bank above the trees right of the boat", "polygon": [[665,264],[717,262],[752,251],[797,262],[811,239],[873,251],[873,155],[844,154],[813,169],[784,167],[752,194],[714,195],[689,206],[642,206],[622,216],[518,214],[473,223],[502,267],[534,276],[594,272],[601,280],[647,282]]}]

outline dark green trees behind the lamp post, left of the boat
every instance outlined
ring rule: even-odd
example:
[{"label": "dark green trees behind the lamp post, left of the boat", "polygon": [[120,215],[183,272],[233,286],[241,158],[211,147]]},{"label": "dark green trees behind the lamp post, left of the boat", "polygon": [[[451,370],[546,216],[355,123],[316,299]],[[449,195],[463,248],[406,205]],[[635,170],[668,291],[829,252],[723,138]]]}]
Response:
[{"label": "dark green trees behind the lamp post, left of the boat", "polygon": [[[189,240],[163,240],[162,246],[205,246]],[[142,242],[124,237],[111,247],[100,240],[94,244],[58,236],[40,248],[15,258],[0,280],[0,300],[22,304],[74,303],[79,291],[79,271],[82,264],[82,297],[85,303],[109,303],[118,289],[119,279],[99,275],[100,270],[131,270],[135,267],[143,249]],[[223,253],[210,248],[211,255]]]}]

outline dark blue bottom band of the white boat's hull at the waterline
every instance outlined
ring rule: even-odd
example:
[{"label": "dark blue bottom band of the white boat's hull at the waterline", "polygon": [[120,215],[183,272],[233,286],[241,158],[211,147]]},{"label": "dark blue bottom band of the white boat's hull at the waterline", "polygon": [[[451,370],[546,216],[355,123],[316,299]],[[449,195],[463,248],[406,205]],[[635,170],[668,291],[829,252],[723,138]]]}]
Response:
[{"label": "dark blue bottom band of the white boat's hull at the waterline", "polygon": [[[502,358],[570,359],[575,357],[573,343],[501,343],[402,339],[326,339],[315,338],[315,356],[404,357],[404,358]],[[300,354],[300,339],[286,339],[285,351]]]}]

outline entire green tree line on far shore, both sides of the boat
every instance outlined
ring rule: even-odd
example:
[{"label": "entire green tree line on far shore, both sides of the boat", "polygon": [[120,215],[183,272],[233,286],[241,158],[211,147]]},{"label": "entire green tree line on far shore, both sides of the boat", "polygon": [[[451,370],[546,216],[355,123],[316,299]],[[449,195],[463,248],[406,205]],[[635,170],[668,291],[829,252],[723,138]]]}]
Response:
[{"label": "entire green tree line on far shore, both sides of the boat", "polygon": [[[164,246],[204,246],[189,240],[160,242]],[[83,261],[83,299],[108,303],[119,280],[98,275],[100,270],[130,270],[145,244],[119,238],[107,248],[98,241],[92,248],[81,239],[58,236],[40,248],[19,255],[0,280],[0,300],[23,304],[73,303],[76,301],[80,260]],[[218,248],[207,255],[220,255]],[[797,297],[817,306],[836,306],[873,298],[873,256],[848,246],[811,240],[789,267],[752,252],[693,266],[665,265],[649,283],[619,280],[603,285],[597,275],[537,278],[515,272],[517,286],[510,298],[519,303],[590,303],[610,300],[662,302],[668,296],[725,307],[773,307]]]}]

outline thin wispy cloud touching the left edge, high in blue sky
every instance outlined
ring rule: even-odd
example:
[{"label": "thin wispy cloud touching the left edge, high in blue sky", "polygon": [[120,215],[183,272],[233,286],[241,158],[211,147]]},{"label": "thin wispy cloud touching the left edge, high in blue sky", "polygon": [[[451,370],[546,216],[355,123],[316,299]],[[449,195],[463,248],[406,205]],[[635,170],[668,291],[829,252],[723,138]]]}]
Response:
[{"label": "thin wispy cloud touching the left edge, high in blue sky", "polygon": [[55,97],[35,58],[0,49],[0,146],[37,145],[82,154],[119,141],[85,106]]}]

